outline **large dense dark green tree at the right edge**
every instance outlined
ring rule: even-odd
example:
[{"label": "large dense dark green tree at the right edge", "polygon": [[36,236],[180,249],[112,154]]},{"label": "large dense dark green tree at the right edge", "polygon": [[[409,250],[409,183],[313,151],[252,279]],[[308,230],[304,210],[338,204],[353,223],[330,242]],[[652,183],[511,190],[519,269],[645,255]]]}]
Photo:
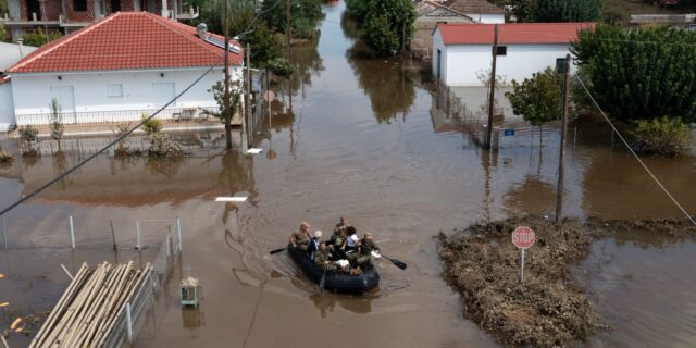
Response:
[{"label": "large dense dark green tree at the right edge", "polygon": [[587,87],[621,121],[696,121],[696,33],[599,25],[573,45]]}]

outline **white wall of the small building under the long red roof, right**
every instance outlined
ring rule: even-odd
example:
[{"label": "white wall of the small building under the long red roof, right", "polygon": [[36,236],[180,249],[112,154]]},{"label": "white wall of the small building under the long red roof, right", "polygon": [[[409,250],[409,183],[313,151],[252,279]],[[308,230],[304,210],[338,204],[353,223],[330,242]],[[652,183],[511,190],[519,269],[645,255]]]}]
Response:
[{"label": "white wall of the small building under the long red roof, right", "polygon": [[[496,75],[522,80],[546,67],[556,67],[556,60],[566,58],[570,45],[504,45],[507,54],[498,55]],[[437,76],[437,49],[442,54],[440,80],[447,86],[482,86],[476,77],[478,71],[489,71],[492,64],[492,45],[451,45],[444,46],[439,32],[433,36],[433,75]],[[574,66],[571,65],[571,70]]]}]

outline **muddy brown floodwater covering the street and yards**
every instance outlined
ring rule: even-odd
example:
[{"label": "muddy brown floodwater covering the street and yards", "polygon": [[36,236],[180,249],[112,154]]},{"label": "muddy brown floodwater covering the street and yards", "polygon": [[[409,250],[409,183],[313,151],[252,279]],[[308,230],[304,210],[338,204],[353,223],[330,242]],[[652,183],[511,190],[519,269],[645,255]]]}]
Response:
[{"label": "muddy brown floodwater covering the street and yards", "polygon": [[[497,347],[462,318],[459,296],[439,277],[433,237],[482,219],[551,213],[557,132],[547,130],[540,148],[521,134],[492,156],[481,151],[406,63],[359,53],[350,28],[341,26],[344,9],[343,2],[325,7],[319,41],[296,49],[293,113],[264,122],[260,156],[231,151],[163,162],[100,157],[8,214],[11,251],[0,258],[7,276],[0,300],[24,312],[44,310],[67,284],[60,263],[98,260],[100,253],[113,260],[113,252],[98,247],[110,243],[109,220],[127,245],[134,221],[178,215],[182,263],[200,279],[203,299],[199,311],[182,311],[172,283],[138,337],[140,347]],[[289,101],[282,92],[278,98]],[[443,114],[453,126],[442,126]],[[581,127],[573,138],[568,215],[680,217],[638,164],[610,146],[608,128]],[[67,164],[79,158],[70,156]],[[693,158],[647,164],[696,210]],[[0,203],[30,192],[64,165],[44,157],[0,169]],[[214,201],[237,194],[249,200]],[[78,245],[91,249],[72,254],[64,248],[69,214]],[[269,256],[300,221],[328,233],[341,215],[373,232],[385,254],[409,268],[378,262],[380,287],[362,297],[318,295],[286,254]],[[159,240],[158,228],[145,228],[144,243]],[[685,299],[696,287],[689,258],[696,244],[630,238],[596,247],[604,268],[591,273],[589,288],[616,331],[588,345],[693,344],[696,321]]]}]

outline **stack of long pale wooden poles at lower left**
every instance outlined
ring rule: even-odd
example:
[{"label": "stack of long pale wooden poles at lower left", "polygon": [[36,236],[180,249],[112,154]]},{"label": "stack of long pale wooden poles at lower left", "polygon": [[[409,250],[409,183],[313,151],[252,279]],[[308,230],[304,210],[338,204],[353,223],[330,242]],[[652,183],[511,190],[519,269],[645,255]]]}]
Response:
[{"label": "stack of long pale wooden poles at lower left", "polygon": [[100,347],[151,269],[83,263],[29,347]]}]

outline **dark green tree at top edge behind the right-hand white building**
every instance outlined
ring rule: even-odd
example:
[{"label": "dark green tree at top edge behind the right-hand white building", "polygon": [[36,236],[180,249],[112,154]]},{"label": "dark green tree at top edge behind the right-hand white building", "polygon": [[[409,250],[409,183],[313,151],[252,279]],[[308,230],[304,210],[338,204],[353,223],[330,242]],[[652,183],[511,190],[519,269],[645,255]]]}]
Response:
[{"label": "dark green tree at top edge behind the right-hand white building", "polygon": [[536,22],[594,22],[601,15],[602,0],[536,0]]}]

